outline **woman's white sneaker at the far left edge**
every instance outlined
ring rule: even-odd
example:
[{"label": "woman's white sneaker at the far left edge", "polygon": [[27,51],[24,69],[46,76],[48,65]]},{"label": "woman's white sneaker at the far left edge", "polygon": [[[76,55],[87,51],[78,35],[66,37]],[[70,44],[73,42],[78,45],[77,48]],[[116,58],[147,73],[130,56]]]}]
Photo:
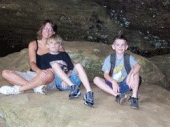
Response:
[{"label": "woman's white sneaker at the far left edge", "polygon": [[19,88],[20,86],[2,86],[0,88],[0,93],[4,95],[20,94]]}]

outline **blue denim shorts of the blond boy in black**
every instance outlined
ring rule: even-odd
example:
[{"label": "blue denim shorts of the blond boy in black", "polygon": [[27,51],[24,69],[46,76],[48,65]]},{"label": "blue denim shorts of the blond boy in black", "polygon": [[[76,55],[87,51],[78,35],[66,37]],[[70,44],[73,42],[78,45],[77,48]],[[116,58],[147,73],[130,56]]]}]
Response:
[{"label": "blue denim shorts of the blond boy in black", "polygon": [[[71,76],[69,77],[69,79],[71,80],[71,82],[74,84],[74,85],[77,85],[77,86],[80,86],[81,84],[81,81],[78,77],[78,75],[75,73],[75,70],[73,69],[72,73],[71,73]],[[56,82],[56,87],[63,91],[63,90],[70,90],[70,86],[67,86],[67,88],[62,88],[62,80],[55,74],[55,82]]]}]

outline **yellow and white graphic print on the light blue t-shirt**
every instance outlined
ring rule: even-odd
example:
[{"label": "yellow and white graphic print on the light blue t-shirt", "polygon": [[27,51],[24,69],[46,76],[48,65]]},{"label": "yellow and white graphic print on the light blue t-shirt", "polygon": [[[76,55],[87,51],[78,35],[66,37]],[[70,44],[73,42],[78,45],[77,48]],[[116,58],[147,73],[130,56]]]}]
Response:
[{"label": "yellow and white graphic print on the light blue t-shirt", "polygon": [[122,82],[125,77],[123,77],[123,70],[124,65],[120,64],[119,66],[114,68],[112,78],[116,80],[116,82]]}]

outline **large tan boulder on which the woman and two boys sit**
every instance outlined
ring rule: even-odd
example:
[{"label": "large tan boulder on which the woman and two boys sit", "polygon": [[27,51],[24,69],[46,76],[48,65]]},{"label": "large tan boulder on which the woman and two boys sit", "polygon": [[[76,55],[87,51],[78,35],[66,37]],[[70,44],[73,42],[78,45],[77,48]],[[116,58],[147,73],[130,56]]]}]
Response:
[{"label": "large tan boulder on which the woman and two boys sit", "polygon": [[[159,86],[164,85],[165,75],[148,59],[132,54],[141,65],[143,78],[139,88],[140,109],[130,109],[129,103],[120,106],[115,97],[106,94],[92,83],[95,76],[102,76],[104,58],[113,52],[110,45],[88,42],[65,42],[64,47],[73,61],[81,63],[89,77],[95,96],[94,107],[83,104],[82,95],[68,99],[69,91],[53,90],[47,95],[35,94],[33,90],[19,95],[0,95],[0,124],[2,127],[120,127],[120,126],[169,126],[170,92]],[[0,59],[0,71],[13,69],[29,70],[28,49]],[[160,82],[161,84],[157,85]],[[0,78],[0,86],[10,85]],[[131,92],[127,93],[128,96]],[[165,96],[166,95],[166,96]]]}]

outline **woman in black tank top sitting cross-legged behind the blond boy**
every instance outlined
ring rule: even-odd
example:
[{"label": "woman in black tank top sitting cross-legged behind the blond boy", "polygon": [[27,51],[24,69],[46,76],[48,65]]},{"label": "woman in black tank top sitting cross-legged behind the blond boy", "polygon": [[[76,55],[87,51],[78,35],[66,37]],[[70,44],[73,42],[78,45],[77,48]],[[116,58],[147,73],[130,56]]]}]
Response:
[{"label": "woman in black tank top sitting cross-legged behind the blond boy", "polygon": [[[30,71],[18,72],[3,70],[2,77],[11,86],[2,86],[0,93],[5,95],[20,94],[26,90],[34,89],[34,92],[45,94],[47,89],[55,88],[54,75],[50,69],[41,70],[40,60],[43,54],[48,52],[46,40],[57,32],[57,26],[52,20],[44,20],[38,31],[38,40],[32,41],[28,46]],[[61,51],[65,51],[64,48]]]}]

